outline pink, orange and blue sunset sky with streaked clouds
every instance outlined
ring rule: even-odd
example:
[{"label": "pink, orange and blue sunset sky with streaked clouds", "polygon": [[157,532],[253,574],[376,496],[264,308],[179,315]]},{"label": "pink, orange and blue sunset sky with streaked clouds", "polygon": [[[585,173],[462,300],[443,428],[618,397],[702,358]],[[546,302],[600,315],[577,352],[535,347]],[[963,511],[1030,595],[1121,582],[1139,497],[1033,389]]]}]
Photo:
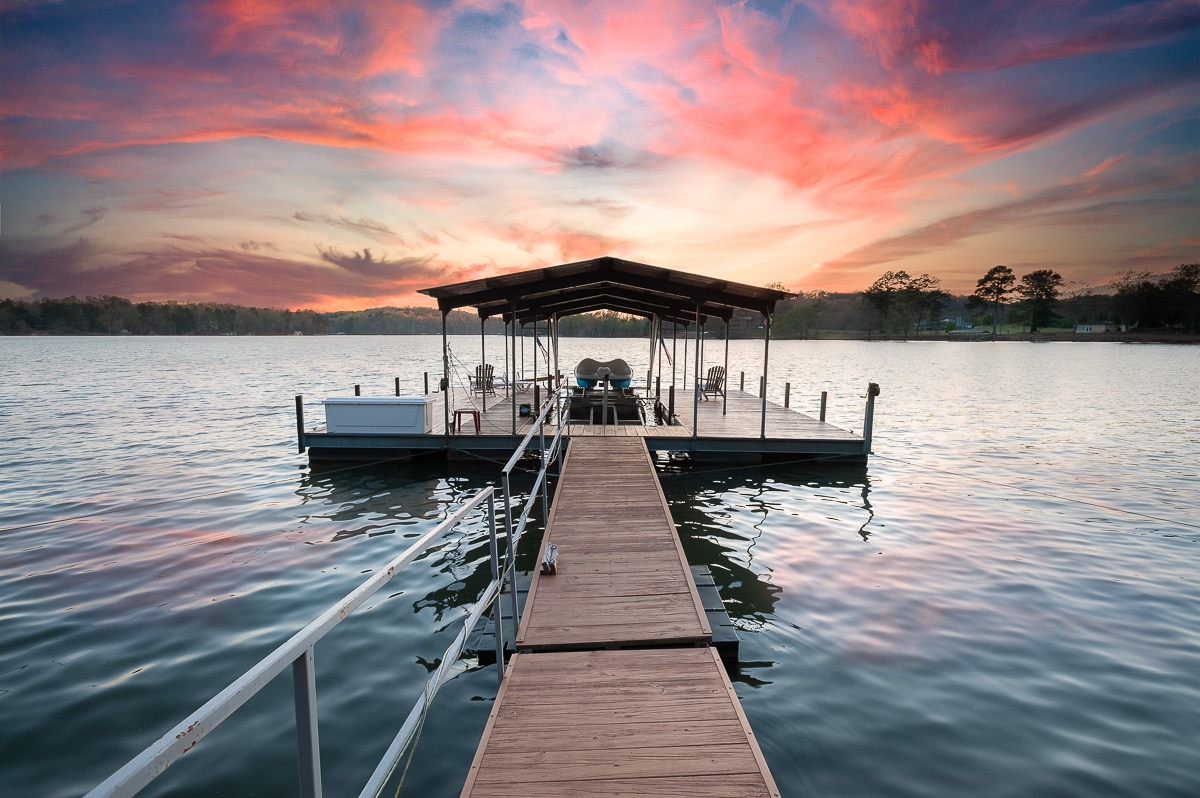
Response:
[{"label": "pink, orange and blue sunset sky with streaked clouds", "polygon": [[0,0],[0,296],[1200,260],[1200,2]]}]

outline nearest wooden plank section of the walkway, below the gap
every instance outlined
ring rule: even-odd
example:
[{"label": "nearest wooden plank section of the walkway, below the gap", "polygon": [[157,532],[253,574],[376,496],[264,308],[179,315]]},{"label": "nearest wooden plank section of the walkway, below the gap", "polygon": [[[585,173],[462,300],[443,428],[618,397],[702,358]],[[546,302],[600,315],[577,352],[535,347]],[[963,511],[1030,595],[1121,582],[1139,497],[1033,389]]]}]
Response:
[{"label": "nearest wooden plank section of the walkway, below the gap", "polygon": [[778,797],[710,648],[516,654],[462,798]]}]

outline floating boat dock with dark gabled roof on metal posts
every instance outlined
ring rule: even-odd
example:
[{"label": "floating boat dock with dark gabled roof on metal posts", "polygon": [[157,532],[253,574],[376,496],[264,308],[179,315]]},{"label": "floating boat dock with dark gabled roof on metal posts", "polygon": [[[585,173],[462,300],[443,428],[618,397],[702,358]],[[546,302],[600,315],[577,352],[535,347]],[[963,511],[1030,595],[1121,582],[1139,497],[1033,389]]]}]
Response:
[{"label": "floating boat dock with dark gabled roof on metal posts", "polygon": [[[746,286],[725,280],[604,257],[544,269],[486,277],[463,283],[422,289],[434,298],[443,316],[443,362],[440,390],[422,402],[422,425],[410,430],[388,427],[306,427],[304,407],[296,397],[298,438],[311,460],[392,460],[442,451],[448,456],[494,456],[509,452],[528,431],[532,418],[558,391],[569,389],[571,410],[556,422],[570,424],[571,436],[632,436],[644,438],[650,451],[688,454],[708,460],[828,460],[865,462],[870,451],[874,398],[878,389],[868,386],[862,434],[769,402],[766,386],[770,379],[770,329],[776,304],[792,294],[774,288]],[[481,390],[463,391],[451,379],[446,317],[451,311],[473,307],[480,319],[479,362],[497,360],[488,353],[484,325],[499,317],[505,324],[504,372],[511,376]],[[634,374],[634,386],[610,385],[602,379],[578,378],[570,388],[563,373],[575,364],[559,362],[560,319],[595,311],[641,316],[650,322],[649,368]],[[763,330],[763,372],[751,384],[758,394],[734,390],[727,378],[728,329],[734,313],[761,317]],[[724,322],[726,331],[720,364],[706,364],[704,352],[714,348],[706,341],[704,325]],[[546,330],[546,365],[539,373],[539,359],[532,359],[532,373],[524,370],[522,331],[533,325]],[[678,359],[662,367],[662,350],[674,349],[679,335],[692,343],[690,379],[679,378]],[[522,362],[518,362],[518,359]],[[587,361],[586,361],[587,362]],[[595,361],[590,361],[595,364]],[[582,365],[582,364],[581,364]],[[604,364],[588,376],[605,374]],[[707,371],[706,371],[707,365]],[[712,378],[716,378],[715,384]],[[697,379],[697,376],[703,376]],[[623,377],[623,376],[622,376]],[[478,379],[491,379],[482,373]],[[616,382],[616,380],[614,380]],[[476,382],[472,386],[480,389]],[[419,397],[414,397],[419,398]],[[364,401],[366,403],[366,401]],[[640,408],[641,418],[628,413],[616,416],[608,403]],[[590,412],[576,412],[580,406]],[[602,407],[602,412],[595,408]],[[326,415],[329,404],[326,403]],[[599,422],[598,422],[599,420]]]}]

